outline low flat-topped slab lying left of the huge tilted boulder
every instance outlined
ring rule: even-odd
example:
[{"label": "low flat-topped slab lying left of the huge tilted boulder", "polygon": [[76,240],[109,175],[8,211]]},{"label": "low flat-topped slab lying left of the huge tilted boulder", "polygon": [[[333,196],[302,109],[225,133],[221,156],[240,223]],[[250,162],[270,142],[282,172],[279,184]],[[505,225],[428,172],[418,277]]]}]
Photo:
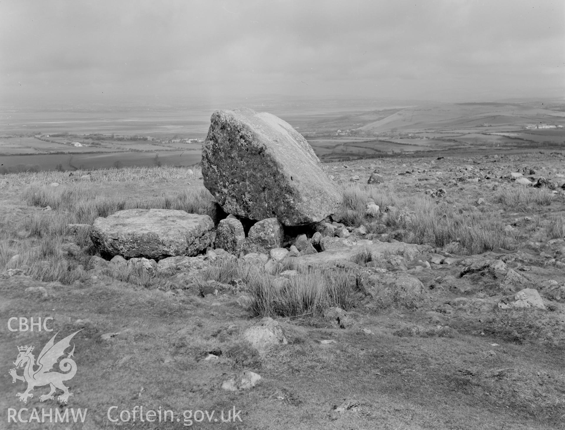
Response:
[{"label": "low flat-topped slab lying left of the huge tilted boulder", "polygon": [[208,215],[173,209],[126,209],[97,218],[90,239],[102,252],[125,258],[195,256],[210,245]]}]

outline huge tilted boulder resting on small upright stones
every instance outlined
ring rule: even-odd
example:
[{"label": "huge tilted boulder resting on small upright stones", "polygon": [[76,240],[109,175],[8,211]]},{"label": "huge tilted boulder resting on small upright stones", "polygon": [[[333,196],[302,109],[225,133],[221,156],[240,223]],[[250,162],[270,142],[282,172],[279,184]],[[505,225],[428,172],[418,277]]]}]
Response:
[{"label": "huge tilted boulder resting on small upright stones", "polygon": [[216,111],[202,147],[204,186],[227,213],[286,226],[320,222],[341,200],[306,139],[248,108]]}]

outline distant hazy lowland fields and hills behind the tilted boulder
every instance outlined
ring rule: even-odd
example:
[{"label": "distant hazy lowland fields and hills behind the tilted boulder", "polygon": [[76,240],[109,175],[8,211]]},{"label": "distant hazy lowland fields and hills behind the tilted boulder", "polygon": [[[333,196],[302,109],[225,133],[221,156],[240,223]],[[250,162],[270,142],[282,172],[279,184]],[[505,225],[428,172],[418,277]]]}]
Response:
[{"label": "distant hazy lowland fields and hills behind the tilted boulder", "polygon": [[[306,137],[322,161],[346,161],[429,151],[563,148],[563,104],[560,100],[551,104],[252,100],[247,106],[288,121]],[[158,155],[161,163],[165,160],[171,165],[192,165],[199,161],[201,144],[173,142],[173,138],[202,141],[215,108],[131,106],[3,111],[0,172],[53,169],[59,164],[72,170],[64,162],[69,155],[80,160],[73,166],[89,169],[107,168],[116,161],[125,166],[151,165],[151,156],[137,152]],[[554,128],[532,129],[542,125]],[[41,140],[30,134],[41,135]],[[47,134],[55,137],[45,138]],[[135,140],[135,136],[154,140]],[[85,146],[73,147],[71,142]],[[56,155],[44,156],[50,153]],[[27,156],[30,158],[25,159]]]}]

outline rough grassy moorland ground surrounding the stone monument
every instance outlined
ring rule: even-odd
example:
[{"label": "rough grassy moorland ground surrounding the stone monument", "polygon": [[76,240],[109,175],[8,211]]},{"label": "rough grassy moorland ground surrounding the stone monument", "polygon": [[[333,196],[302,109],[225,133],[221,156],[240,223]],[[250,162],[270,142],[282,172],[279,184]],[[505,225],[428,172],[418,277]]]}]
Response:
[{"label": "rough grassy moorland ground surrounding the stone monument", "polygon": [[[344,194],[342,222],[363,225],[375,241],[428,245],[420,261],[401,265],[398,256],[360,258],[357,266],[414,275],[424,295],[418,301],[364,306],[354,278],[345,276],[340,286],[340,304],[349,318],[345,328],[324,318],[324,309],[336,304],[328,296],[306,311],[295,309],[298,316],[292,318],[268,303],[258,306],[260,292],[270,288],[268,277],[243,261],[211,262],[188,280],[182,274],[88,270],[98,251],[88,229],[69,234],[68,223],[90,224],[133,207],[216,216],[197,168],[3,175],[1,321],[52,316],[55,332],[84,328],[74,338],[79,372],[69,385],[75,396],[68,405],[41,403],[36,396],[25,407],[88,408],[88,419],[77,425],[85,429],[113,427],[106,412],[114,405],[118,411],[162,406],[175,416],[187,409],[235,406],[242,410],[242,423],[194,423],[233,429],[564,428],[565,306],[558,292],[565,286],[560,188],[565,158],[560,151],[493,152],[324,165]],[[384,183],[366,185],[375,170]],[[512,172],[547,178],[557,184],[556,192],[519,185]],[[53,182],[59,185],[51,187]],[[434,192],[440,188],[444,191]],[[408,216],[367,217],[368,201]],[[51,210],[44,210],[47,206]],[[453,261],[436,264],[434,256]],[[463,267],[483,259],[504,261],[523,276],[523,287],[536,288],[547,310],[498,309],[507,294],[504,279],[489,270],[460,276]],[[308,270],[295,269],[303,296],[312,293],[313,284],[327,288],[323,281],[312,282]],[[206,291],[206,283],[218,293]],[[230,284],[241,289],[221,288]],[[288,344],[260,354],[243,334],[263,314],[280,322]],[[23,406],[15,397],[23,385],[12,385],[8,363],[18,345],[44,345],[51,334],[10,332],[3,323],[0,336],[6,370],[0,391],[10,393],[0,398],[6,422],[8,407]],[[206,360],[210,353],[218,358]],[[221,389],[224,380],[244,370],[262,376],[257,387]],[[180,428],[182,419],[135,424]],[[8,428],[56,425],[11,423]]]}]

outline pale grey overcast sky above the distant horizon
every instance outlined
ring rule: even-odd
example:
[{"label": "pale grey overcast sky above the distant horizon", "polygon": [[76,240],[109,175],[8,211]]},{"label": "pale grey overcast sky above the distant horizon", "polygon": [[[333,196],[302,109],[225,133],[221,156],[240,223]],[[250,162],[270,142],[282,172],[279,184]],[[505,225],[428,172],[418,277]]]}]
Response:
[{"label": "pale grey overcast sky above the distant horizon", "polygon": [[565,95],[563,0],[3,0],[0,102]]}]

